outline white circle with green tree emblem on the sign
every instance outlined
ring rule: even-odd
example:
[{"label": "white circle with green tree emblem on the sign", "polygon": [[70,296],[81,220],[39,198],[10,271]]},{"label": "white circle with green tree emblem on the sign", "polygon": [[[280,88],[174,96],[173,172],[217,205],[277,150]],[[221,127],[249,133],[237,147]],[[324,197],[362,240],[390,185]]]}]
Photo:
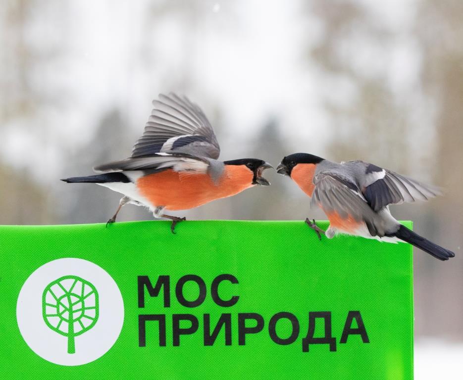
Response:
[{"label": "white circle with green tree emblem on the sign", "polygon": [[98,265],[64,258],[36,269],[19,292],[19,331],[51,363],[78,366],[104,355],[124,323],[116,283]]}]

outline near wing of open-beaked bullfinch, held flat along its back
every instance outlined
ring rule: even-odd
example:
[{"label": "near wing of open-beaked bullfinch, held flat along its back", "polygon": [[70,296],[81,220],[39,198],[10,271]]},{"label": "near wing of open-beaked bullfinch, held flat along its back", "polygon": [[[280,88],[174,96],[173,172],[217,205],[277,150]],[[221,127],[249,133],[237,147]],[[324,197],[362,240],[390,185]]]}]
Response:
[{"label": "near wing of open-beaked bullfinch, held flat along its back", "polygon": [[125,160],[110,162],[96,166],[97,172],[117,172],[123,170],[154,170],[173,169],[176,172],[194,171],[206,173],[209,162],[206,159],[185,153],[154,153],[147,157],[131,157]]}]

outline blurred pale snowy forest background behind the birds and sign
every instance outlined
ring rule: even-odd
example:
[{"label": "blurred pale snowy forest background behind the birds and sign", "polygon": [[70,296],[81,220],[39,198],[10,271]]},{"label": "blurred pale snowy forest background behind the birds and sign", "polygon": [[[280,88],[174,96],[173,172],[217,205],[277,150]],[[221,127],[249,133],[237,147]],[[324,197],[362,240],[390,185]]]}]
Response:
[{"label": "blurred pale snowy forest background behind the birds and sign", "polygon": [[[59,178],[129,156],[151,100],[186,94],[222,159],[305,151],[446,189],[393,212],[457,254],[415,250],[415,374],[462,379],[462,20],[459,0],[1,1],[0,223],[105,222],[118,194]],[[267,177],[276,186],[179,215],[324,218]]]}]

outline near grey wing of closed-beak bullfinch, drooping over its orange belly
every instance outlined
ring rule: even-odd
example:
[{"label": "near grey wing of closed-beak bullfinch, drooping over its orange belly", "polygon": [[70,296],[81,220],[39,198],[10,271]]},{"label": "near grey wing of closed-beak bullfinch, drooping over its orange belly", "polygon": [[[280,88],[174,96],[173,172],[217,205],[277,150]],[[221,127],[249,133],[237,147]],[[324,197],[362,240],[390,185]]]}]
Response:
[{"label": "near grey wing of closed-beak bullfinch, drooping over its orange belly", "polygon": [[317,174],[313,182],[312,202],[319,204],[326,214],[335,212],[342,219],[364,222],[371,236],[384,236],[384,221],[370,208],[357,185],[328,172]]}]

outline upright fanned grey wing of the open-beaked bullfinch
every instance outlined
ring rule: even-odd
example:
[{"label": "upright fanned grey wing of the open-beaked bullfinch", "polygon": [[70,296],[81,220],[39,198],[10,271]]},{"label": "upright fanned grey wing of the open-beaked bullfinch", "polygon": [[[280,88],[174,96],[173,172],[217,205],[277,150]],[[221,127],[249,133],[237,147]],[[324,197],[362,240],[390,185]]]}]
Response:
[{"label": "upright fanned grey wing of the open-beaked bullfinch", "polygon": [[158,152],[186,152],[217,159],[220,146],[200,107],[173,93],[153,100],[145,132],[132,149],[132,157]]}]

